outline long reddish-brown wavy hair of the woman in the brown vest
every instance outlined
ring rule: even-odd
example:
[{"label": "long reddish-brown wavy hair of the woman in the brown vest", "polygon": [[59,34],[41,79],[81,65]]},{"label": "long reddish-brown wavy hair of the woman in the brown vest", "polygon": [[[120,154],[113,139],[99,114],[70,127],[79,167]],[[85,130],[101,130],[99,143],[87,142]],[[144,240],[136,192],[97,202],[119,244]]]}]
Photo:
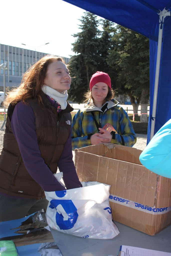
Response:
[{"label": "long reddish-brown wavy hair of the woman in the brown vest", "polygon": [[15,105],[19,101],[26,102],[35,98],[39,104],[43,104],[41,88],[47,76],[48,66],[54,61],[62,61],[65,64],[64,59],[59,56],[49,54],[42,57],[24,73],[20,86],[7,92],[4,105],[8,107],[10,103]]}]

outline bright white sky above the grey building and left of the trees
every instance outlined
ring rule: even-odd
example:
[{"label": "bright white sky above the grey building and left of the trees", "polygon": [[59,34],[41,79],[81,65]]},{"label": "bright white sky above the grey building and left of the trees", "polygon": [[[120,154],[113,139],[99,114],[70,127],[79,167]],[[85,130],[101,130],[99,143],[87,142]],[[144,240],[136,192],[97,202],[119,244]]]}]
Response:
[{"label": "bright white sky above the grey building and left of the trees", "polygon": [[36,50],[70,57],[83,12],[62,0],[1,0],[0,43],[35,50],[49,42]]}]

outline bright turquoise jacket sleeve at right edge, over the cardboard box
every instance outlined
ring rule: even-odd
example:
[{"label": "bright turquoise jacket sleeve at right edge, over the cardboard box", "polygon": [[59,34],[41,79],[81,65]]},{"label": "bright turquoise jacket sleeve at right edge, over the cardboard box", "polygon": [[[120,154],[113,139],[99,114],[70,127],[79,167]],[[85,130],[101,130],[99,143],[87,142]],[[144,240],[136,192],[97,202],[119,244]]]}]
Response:
[{"label": "bright turquoise jacket sleeve at right edge, over the cardboard box", "polygon": [[150,171],[171,178],[171,119],[158,130],[139,159]]}]

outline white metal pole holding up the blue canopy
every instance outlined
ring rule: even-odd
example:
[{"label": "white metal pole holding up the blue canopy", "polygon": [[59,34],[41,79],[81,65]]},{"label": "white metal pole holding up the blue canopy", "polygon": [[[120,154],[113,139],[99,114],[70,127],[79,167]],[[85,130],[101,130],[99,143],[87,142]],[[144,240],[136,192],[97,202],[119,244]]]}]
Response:
[{"label": "white metal pole holding up the blue canopy", "polygon": [[155,82],[154,82],[154,96],[153,96],[153,109],[152,109],[152,119],[151,119],[150,140],[154,136],[156,106],[157,106],[158,80],[159,80],[161,48],[162,48],[163,23],[164,23],[164,19],[165,19],[166,16],[170,16],[170,12],[167,12],[167,10],[165,10],[165,8],[164,8],[163,11],[159,15],[157,60],[156,60]]}]

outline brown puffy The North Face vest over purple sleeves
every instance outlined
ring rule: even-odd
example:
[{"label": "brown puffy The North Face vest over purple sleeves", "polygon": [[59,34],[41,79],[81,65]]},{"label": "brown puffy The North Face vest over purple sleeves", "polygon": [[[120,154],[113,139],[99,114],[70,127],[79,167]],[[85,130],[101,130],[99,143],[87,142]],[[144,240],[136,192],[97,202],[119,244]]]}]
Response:
[{"label": "brown puffy The North Face vest over purple sleeves", "polygon": [[[68,103],[66,109],[58,114],[45,94],[42,98],[44,105],[39,105],[37,99],[31,99],[28,102],[35,114],[35,127],[41,157],[51,172],[56,173],[57,162],[70,133],[72,122],[70,112],[73,108]],[[0,191],[11,196],[41,199],[45,196],[44,191],[27,172],[11,129],[10,120],[14,107],[10,104],[7,112],[3,150],[0,156]],[[24,191],[24,193],[20,191]]]}]

